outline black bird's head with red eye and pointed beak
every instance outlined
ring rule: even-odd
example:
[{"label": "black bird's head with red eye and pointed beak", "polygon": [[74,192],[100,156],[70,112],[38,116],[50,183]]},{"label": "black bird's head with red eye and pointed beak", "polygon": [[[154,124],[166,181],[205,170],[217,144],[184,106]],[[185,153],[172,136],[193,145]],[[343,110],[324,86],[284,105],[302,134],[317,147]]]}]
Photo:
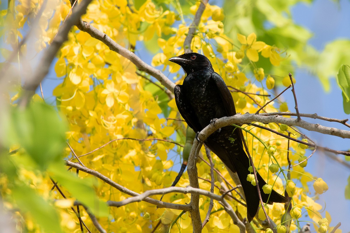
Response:
[{"label": "black bird's head with red eye and pointed beak", "polygon": [[178,57],[170,58],[169,61],[179,64],[187,74],[200,70],[213,71],[209,59],[199,53],[184,53]]}]

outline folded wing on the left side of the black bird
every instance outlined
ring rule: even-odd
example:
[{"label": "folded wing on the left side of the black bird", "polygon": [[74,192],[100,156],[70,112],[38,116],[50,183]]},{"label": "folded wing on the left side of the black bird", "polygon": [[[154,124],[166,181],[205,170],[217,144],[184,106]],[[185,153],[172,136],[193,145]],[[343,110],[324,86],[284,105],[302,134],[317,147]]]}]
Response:
[{"label": "folded wing on the left side of the black bird", "polygon": [[175,86],[174,94],[177,108],[190,128],[192,128],[195,132],[201,131],[202,128],[199,123],[199,119],[189,101],[186,99],[186,93],[184,92],[186,92],[186,90],[182,87],[182,85]]}]

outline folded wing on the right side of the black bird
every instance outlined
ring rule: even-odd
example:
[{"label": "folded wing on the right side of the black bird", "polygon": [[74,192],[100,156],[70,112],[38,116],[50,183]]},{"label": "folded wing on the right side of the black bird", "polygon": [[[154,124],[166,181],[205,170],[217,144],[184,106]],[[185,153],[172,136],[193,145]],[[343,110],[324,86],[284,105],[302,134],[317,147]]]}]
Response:
[{"label": "folded wing on the right side of the black bird", "polygon": [[220,95],[221,100],[224,103],[226,113],[228,114],[227,116],[236,115],[235,103],[233,102],[232,95],[229,89],[227,88],[224,80],[218,73],[215,72],[211,74],[211,79],[214,81],[218,89],[218,94]]}]

